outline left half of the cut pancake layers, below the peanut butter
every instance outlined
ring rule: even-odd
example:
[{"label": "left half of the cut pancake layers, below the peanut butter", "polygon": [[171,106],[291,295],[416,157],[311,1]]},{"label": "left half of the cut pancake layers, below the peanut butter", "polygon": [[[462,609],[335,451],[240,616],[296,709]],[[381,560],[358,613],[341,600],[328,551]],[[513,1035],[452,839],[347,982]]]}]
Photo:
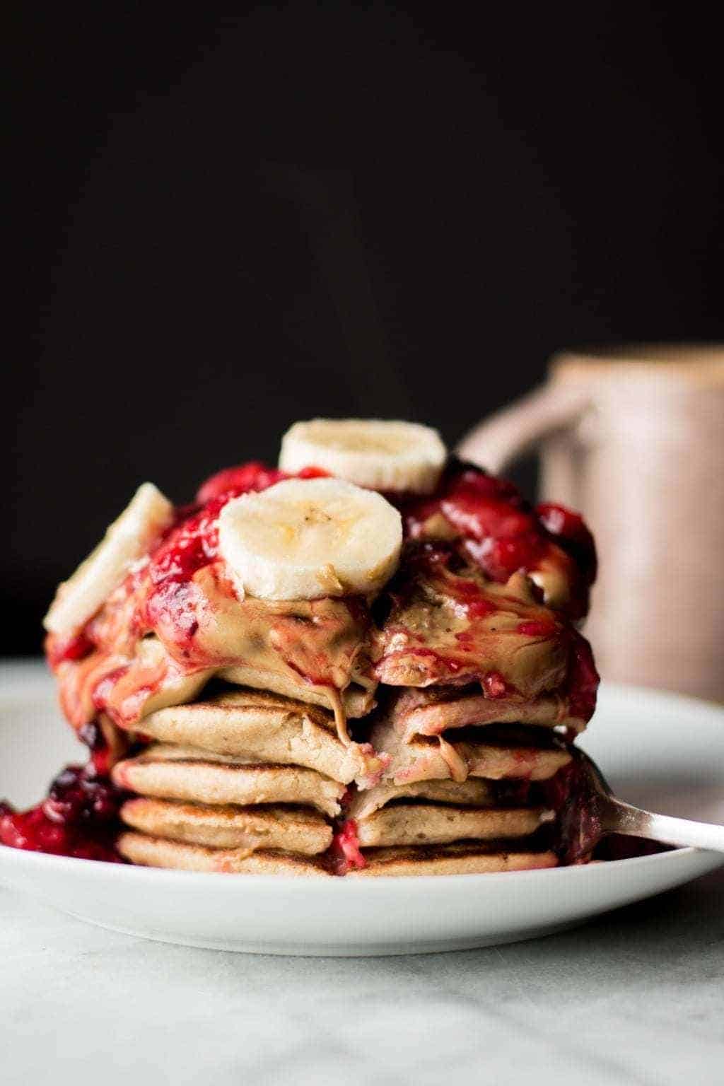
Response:
[{"label": "left half of the cut pancake layers, below the peanut butter", "polygon": [[117,847],[154,867],[328,874],[348,786],[379,780],[384,761],[344,743],[331,712],[256,690],[160,709],[143,731],[154,742],[113,769],[134,793]]}]

